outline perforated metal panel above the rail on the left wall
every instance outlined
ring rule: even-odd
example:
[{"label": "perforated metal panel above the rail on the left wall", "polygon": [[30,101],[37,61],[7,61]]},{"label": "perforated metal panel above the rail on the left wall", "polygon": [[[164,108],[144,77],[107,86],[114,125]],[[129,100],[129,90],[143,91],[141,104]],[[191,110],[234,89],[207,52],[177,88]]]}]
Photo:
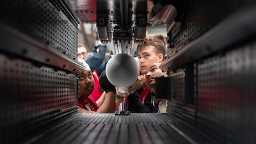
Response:
[{"label": "perforated metal panel above the rail on the left wall", "polygon": [[59,8],[47,0],[1,1],[1,22],[76,60],[77,22],[54,2]]}]

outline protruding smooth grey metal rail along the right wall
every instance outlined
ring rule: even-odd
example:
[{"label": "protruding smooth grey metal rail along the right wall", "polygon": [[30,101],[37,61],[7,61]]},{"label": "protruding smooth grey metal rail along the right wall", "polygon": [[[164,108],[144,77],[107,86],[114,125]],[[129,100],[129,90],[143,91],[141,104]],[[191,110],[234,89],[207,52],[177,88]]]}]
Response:
[{"label": "protruding smooth grey metal rail along the right wall", "polygon": [[[172,53],[172,56],[168,60],[165,60],[159,67],[164,71],[172,70],[173,68],[180,67],[216,51],[225,49],[234,42],[243,41],[246,37],[255,36],[256,20],[253,19],[256,17],[256,4],[253,3],[252,5],[244,6],[237,11],[206,33],[201,31],[204,35],[186,44],[186,46],[180,47],[175,54]],[[175,49],[177,48],[175,47]]]}]

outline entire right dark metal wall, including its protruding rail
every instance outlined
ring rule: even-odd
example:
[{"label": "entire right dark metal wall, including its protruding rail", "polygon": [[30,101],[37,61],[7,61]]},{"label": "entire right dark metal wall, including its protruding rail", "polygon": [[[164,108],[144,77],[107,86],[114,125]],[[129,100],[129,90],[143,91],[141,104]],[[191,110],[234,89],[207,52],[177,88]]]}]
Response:
[{"label": "entire right dark metal wall, including its protruding rail", "polygon": [[255,2],[187,2],[163,63],[172,77],[168,113],[222,143],[255,143]]}]

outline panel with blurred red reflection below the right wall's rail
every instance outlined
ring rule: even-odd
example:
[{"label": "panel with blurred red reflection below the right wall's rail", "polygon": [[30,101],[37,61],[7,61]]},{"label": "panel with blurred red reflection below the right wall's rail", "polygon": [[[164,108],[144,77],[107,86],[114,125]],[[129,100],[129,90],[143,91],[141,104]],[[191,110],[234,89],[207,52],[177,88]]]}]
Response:
[{"label": "panel with blurred red reflection below the right wall's rail", "polygon": [[217,134],[223,141],[253,140],[255,47],[255,42],[248,41],[248,45],[198,63],[198,125],[201,129],[208,127],[210,134]]}]

